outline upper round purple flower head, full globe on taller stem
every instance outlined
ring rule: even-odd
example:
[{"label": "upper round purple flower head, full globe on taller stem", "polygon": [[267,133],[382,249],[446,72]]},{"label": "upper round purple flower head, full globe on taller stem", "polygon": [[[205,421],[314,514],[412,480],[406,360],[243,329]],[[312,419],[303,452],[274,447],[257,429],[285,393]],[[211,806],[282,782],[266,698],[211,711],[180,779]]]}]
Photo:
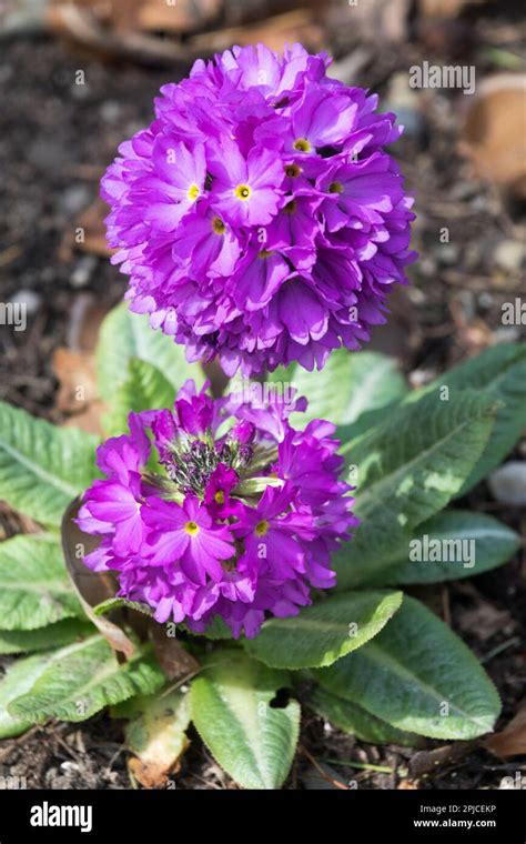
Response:
[{"label": "upper round purple flower head, full globe on taller stem", "polygon": [[384,321],[412,200],[377,98],[324,53],[234,47],[166,84],[102,180],[131,308],[227,374],[322,368]]}]

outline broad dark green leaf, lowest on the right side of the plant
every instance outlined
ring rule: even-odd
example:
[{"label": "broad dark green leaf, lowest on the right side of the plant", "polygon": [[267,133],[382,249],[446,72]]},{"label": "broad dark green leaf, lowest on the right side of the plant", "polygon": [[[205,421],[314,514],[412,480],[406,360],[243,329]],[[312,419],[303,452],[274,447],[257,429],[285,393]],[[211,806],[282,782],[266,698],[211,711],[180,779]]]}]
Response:
[{"label": "broad dark green leaf, lowest on the right side of the plant", "polygon": [[484,735],[500,711],[497,691],[474,654],[408,596],[372,642],[315,673],[333,694],[398,730],[432,738]]}]

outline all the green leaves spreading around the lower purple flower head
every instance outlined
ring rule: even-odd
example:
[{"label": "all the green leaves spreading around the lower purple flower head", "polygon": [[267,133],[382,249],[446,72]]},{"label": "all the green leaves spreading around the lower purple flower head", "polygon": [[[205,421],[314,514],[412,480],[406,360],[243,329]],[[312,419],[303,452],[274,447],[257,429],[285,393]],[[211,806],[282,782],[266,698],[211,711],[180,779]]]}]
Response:
[{"label": "all the green leaves spreading around the lower purple flower head", "polygon": [[[97,359],[109,434],[127,430],[130,411],[170,406],[188,378],[204,381],[181,346],[125,304],[104,320]],[[270,380],[308,398],[306,416],[293,414],[293,425],[313,418],[338,425],[362,523],[335,555],[337,593],[314,593],[313,605],[267,620],[241,646],[219,642],[232,639],[219,616],[201,636],[180,625],[202,664],[189,694],[166,692],[149,645],[134,640],[121,664],[94,632],[52,532],[2,542],[0,654],[32,655],[0,679],[0,737],[51,717],[82,721],[109,705],[130,721],[128,746],[163,772],[188,746],[192,719],[242,787],[279,788],[300,727],[300,706],[286,695],[283,704],[283,690],[292,686],[290,671],[304,669],[317,683],[306,691],[307,705],[361,741],[418,746],[421,736],[471,740],[493,729],[500,703],[476,657],[423,604],[392,590],[478,574],[517,550],[518,536],[493,516],[444,508],[497,466],[526,426],[526,346],[495,346],[414,392],[375,352],[340,350],[322,372],[291,366]],[[59,525],[95,476],[97,443],[0,402],[0,499]],[[412,559],[424,537],[428,549],[441,544],[439,559]],[[444,556],[445,543],[463,542],[473,545]],[[151,615],[124,599],[94,613],[119,609]],[[205,639],[216,641],[204,649]]]}]

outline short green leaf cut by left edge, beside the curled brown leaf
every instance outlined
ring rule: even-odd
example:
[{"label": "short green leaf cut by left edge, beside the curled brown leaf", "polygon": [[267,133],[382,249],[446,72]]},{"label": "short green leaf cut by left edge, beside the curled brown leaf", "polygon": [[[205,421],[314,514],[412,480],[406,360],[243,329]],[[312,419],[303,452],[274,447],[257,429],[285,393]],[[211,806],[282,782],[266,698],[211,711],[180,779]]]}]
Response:
[{"label": "short green leaf cut by left edge, beside the curled brown leaf", "polygon": [[85,617],[68,579],[58,540],[27,535],[1,542],[2,629],[34,630],[73,616]]}]

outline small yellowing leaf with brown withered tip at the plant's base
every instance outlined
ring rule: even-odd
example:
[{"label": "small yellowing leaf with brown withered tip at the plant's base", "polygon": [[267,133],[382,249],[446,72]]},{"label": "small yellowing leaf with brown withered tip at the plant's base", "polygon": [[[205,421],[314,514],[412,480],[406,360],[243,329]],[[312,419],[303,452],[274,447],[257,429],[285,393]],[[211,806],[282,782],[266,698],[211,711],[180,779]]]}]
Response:
[{"label": "small yellowing leaf with brown withered tip at the plant's base", "polygon": [[118,714],[131,719],[124,729],[127,744],[142,762],[142,776],[162,781],[190,744],[190,694],[140,695],[120,704]]}]

